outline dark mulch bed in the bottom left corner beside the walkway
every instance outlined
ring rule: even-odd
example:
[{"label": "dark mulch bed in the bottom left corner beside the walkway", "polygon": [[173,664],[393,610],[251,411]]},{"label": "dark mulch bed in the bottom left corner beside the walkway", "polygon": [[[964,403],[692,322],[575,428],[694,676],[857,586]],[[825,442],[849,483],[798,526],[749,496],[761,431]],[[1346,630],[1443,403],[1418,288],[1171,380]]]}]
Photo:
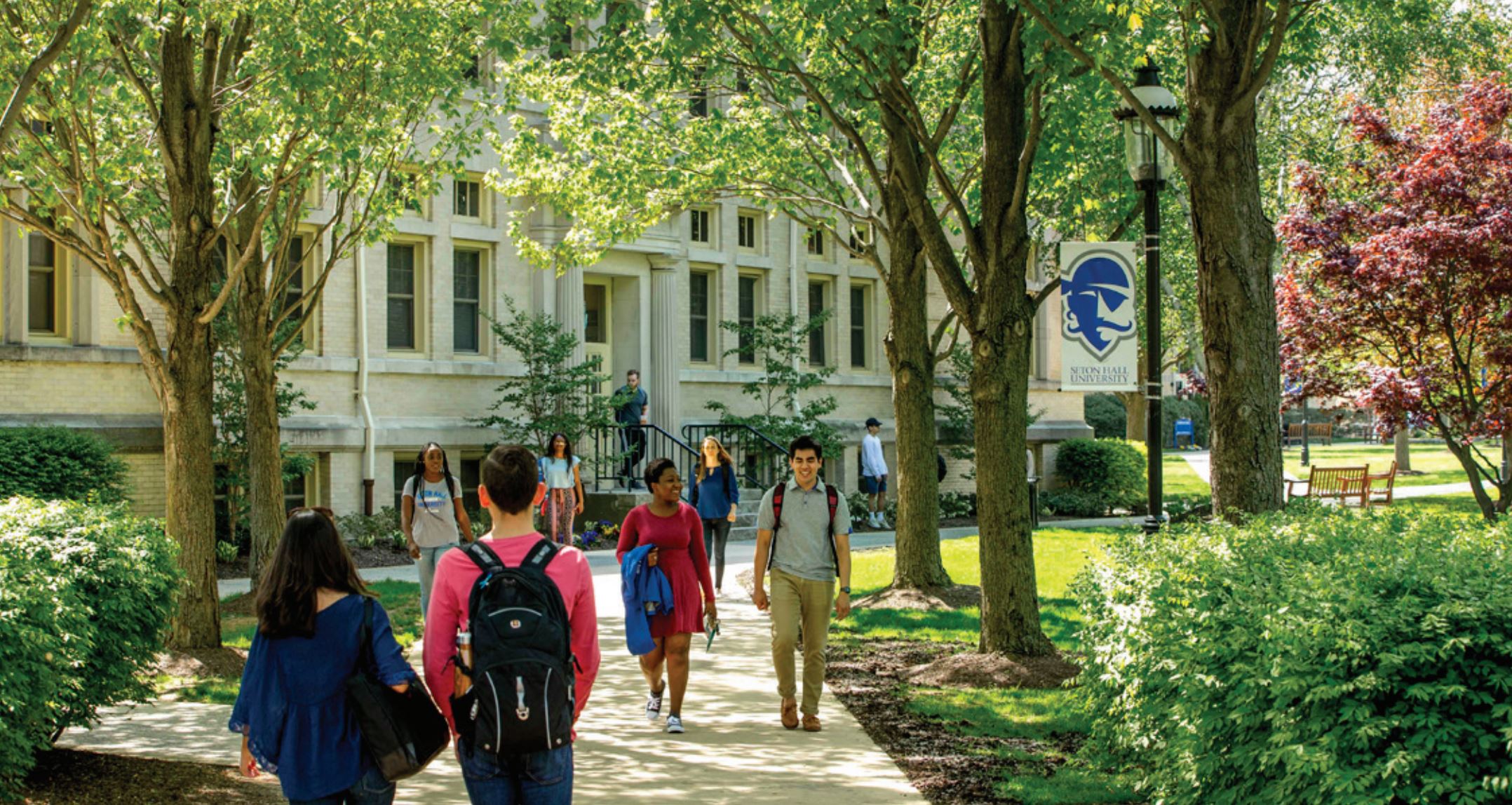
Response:
[{"label": "dark mulch bed in the bottom left corner beside the walkway", "polygon": [[271,775],[245,779],[230,766],[124,758],[51,749],[21,787],[29,805],[141,805],[144,802],[284,802]]}]

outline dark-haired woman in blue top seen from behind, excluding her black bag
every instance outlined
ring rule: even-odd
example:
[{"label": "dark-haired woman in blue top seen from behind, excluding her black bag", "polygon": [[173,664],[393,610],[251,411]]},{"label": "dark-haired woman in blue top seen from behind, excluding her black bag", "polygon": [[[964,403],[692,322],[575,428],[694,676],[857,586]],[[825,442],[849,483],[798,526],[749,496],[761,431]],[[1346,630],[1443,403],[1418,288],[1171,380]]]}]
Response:
[{"label": "dark-haired woman in blue top seen from behind, excluding her black bag", "polygon": [[[278,775],[296,803],[389,805],[395,787],[363,751],[346,707],[367,589],[330,510],[296,508],[257,592],[257,632],[231,710],[240,770]],[[417,676],[373,602],[376,678],[405,692]]]}]

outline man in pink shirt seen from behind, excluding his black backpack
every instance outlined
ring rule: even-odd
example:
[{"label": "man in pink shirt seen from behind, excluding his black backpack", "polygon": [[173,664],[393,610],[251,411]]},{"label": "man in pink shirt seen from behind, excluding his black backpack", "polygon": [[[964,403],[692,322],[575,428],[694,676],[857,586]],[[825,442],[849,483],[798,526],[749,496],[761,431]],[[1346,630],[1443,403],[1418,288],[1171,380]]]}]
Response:
[{"label": "man in pink shirt seen from behind, excluding his black backpack", "polygon": [[[546,495],[538,481],[535,455],[523,446],[497,446],[482,463],[478,499],[488,507],[493,530],[482,543],[510,567],[517,567],[541,540],[532,510]],[[425,614],[425,684],[437,707],[458,735],[452,714],[457,685],[457,634],[466,631],[472,587],[482,570],[464,552],[449,551],[435,566],[431,608]],[[561,548],[546,577],[556,584],[572,626],[572,651],[578,660],[576,708],[573,723],[588,704],[588,692],[599,673],[599,617],[593,601],[593,572],[588,557],[576,548]],[[576,731],[573,732],[576,740]],[[531,802],[556,805],[572,802],[572,744],[519,757],[500,757],[472,746],[469,735],[457,737],[457,760],[463,767],[467,796],[475,805]]]}]

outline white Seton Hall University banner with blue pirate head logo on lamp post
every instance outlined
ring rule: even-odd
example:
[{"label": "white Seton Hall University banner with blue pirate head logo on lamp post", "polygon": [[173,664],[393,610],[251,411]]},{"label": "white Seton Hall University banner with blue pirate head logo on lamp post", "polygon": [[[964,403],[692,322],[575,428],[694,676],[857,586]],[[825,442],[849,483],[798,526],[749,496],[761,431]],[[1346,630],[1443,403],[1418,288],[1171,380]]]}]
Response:
[{"label": "white Seton Hall University banner with blue pirate head logo on lamp post", "polygon": [[1134,244],[1060,245],[1060,389],[1137,392]]}]

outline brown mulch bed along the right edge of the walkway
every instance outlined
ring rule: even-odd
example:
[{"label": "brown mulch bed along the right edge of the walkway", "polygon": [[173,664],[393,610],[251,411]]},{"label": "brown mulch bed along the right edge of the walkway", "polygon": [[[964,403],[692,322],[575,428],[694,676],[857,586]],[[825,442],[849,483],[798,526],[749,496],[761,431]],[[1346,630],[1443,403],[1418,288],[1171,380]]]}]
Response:
[{"label": "brown mulch bed along the right edge of the walkway", "polygon": [[[1013,803],[1015,799],[998,796],[995,790],[1004,773],[1046,776],[1064,763],[1060,758],[1077,752],[1083,735],[1055,734],[1048,741],[960,735],[950,732],[950,725],[906,707],[910,672],[971,648],[968,643],[910,640],[832,643],[826,682],[866,734],[903,769],[909,782],[934,805]],[[1010,760],[998,757],[995,749],[1036,755],[1054,749],[1057,754]]]}]

